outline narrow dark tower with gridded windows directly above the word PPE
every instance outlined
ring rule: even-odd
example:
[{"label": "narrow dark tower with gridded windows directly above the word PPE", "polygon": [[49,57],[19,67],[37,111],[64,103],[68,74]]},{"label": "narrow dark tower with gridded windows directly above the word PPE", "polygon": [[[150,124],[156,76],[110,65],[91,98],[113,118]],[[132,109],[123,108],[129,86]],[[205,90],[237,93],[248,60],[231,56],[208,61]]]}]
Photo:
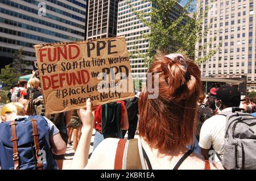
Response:
[{"label": "narrow dark tower with gridded windows directly above the word PPE", "polygon": [[87,39],[117,35],[118,0],[89,0]]}]

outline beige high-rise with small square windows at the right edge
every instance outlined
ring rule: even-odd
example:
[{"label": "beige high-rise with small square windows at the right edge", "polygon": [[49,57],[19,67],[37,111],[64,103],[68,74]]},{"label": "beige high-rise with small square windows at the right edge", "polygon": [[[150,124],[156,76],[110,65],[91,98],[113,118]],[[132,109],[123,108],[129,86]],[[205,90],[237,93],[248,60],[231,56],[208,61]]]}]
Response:
[{"label": "beige high-rise with small square windows at the right edge", "polygon": [[[196,49],[210,40],[213,40],[213,48],[220,45],[220,50],[200,65],[203,75],[247,75],[247,89],[256,89],[255,5],[256,0],[199,1],[198,8],[205,9],[209,6],[202,32],[207,28],[209,31],[207,36],[196,44]],[[203,57],[208,52],[209,48],[204,52],[197,51],[196,56]]]}]

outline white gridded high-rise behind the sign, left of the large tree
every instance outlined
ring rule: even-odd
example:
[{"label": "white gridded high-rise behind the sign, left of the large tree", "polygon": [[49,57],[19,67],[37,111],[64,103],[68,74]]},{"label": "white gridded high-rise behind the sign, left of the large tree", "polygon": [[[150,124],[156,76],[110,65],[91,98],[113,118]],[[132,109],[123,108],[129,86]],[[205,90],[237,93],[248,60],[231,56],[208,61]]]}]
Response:
[{"label": "white gridded high-rise behind the sign, left of the large tree", "polygon": [[[131,72],[134,78],[146,81],[147,67],[144,64],[144,59],[138,54],[144,54],[148,50],[148,41],[142,37],[144,33],[149,33],[150,28],[147,27],[137,15],[135,11],[150,12],[152,4],[141,0],[125,0],[118,3],[118,21],[117,21],[117,36],[125,36],[127,49],[130,56]],[[179,17],[179,7],[181,5],[176,3],[174,9],[170,10],[170,19],[177,19]],[[150,16],[144,18],[150,19]],[[184,23],[184,22],[182,22]]]}]

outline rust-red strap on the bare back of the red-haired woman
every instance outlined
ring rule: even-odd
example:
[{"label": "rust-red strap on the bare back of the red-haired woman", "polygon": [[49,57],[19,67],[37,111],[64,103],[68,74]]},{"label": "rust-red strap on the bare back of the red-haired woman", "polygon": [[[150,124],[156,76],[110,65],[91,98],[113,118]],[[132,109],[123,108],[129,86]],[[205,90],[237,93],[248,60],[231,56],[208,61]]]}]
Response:
[{"label": "rust-red strap on the bare back of the red-haired woman", "polygon": [[123,151],[125,150],[125,139],[120,139],[117,145],[117,151],[115,152],[114,170],[122,170],[123,167]]}]

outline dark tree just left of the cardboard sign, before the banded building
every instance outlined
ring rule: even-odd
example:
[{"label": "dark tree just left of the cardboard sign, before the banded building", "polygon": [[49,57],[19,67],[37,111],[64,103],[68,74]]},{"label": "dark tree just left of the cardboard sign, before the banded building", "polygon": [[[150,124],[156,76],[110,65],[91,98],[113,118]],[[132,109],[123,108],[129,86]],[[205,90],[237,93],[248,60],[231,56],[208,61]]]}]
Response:
[{"label": "dark tree just left of the cardboard sign, before the banded building", "polygon": [[14,59],[13,59],[13,64],[12,64],[14,71],[16,73],[21,73],[22,75],[26,74],[25,69],[27,66],[27,61],[24,61],[24,57],[25,56],[23,55],[22,48],[20,48],[19,50],[16,50],[14,53]]}]

